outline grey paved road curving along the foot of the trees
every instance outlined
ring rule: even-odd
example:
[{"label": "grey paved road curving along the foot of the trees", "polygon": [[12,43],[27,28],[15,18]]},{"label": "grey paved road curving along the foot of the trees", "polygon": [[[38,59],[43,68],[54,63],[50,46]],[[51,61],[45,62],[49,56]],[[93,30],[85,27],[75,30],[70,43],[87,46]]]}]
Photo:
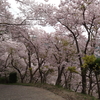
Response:
[{"label": "grey paved road curving along the foot of the trees", "polygon": [[0,85],[0,100],[65,100],[47,90],[17,85]]}]

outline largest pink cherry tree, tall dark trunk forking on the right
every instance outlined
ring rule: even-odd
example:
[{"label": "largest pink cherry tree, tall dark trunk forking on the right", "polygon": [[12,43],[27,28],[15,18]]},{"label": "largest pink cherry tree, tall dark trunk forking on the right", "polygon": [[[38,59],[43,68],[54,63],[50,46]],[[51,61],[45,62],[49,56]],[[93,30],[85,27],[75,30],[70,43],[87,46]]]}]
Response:
[{"label": "largest pink cherry tree, tall dark trunk forking on the right", "polygon": [[[64,0],[58,7],[50,4],[29,5],[29,12],[25,13],[28,19],[36,18],[41,25],[57,24],[66,28],[72,34],[76,44],[77,56],[82,75],[82,93],[86,93],[86,69],[82,68],[82,56],[88,53],[88,48],[95,48],[95,41],[99,35],[100,1],[98,0]],[[31,14],[30,14],[31,12]],[[34,17],[33,17],[34,16]],[[79,37],[86,33],[87,39],[83,50],[80,48]],[[91,45],[90,45],[91,44]],[[92,50],[91,54],[93,54]]]}]

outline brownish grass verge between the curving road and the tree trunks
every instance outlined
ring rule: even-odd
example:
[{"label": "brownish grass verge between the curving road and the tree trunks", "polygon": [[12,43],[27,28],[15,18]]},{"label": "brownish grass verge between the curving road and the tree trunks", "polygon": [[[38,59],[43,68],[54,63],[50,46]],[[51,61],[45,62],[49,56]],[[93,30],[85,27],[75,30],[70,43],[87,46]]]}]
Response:
[{"label": "brownish grass verge between the curving road and the tree trunks", "polygon": [[57,95],[63,97],[66,100],[98,100],[95,97],[91,97],[89,95],[72,92],[72,91],[69,91],[69,90],[64,89],[62,87],[49,85],[49,84],[17,83],[17,84],[13,84],[13,85],[34,86],[34,87],[38,87],[38,88],[43,88],[43,89],[46,89],[46,90],[53,92],[54,94],[57,94]]}]

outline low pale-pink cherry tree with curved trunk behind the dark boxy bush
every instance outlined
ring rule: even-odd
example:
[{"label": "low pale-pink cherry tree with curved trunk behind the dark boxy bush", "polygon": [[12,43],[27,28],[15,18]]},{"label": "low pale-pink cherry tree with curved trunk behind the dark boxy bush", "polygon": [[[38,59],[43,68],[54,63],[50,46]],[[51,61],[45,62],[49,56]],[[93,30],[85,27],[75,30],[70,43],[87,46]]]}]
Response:
[{"label": "low pale-pink cherry tree with curved trunk behind the dark boxy bush", "polygon": [[3,46],[5,46],[5,53],[0,57],[5,62],[3,68],[5,68],[8,74],[12,71],[17,71],[21,82],[23,82],[28,69],[25,47],[14,41],[6,41],[3,43]]}]

